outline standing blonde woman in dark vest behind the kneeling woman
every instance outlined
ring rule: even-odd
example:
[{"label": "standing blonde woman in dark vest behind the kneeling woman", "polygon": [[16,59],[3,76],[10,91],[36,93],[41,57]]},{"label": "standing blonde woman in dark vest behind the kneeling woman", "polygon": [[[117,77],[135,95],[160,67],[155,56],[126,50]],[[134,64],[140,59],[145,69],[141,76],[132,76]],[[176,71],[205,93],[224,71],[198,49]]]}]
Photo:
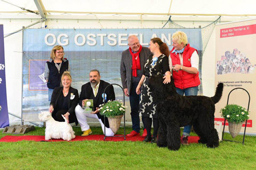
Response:
[{"label": "standing blonde woman in dark vest behind the kneeling woman", "polygon": [[69,61],[64,58],[64,51],[61,45],[52,48],[51,58],[46,62],[45,79],[47,81],[49,101],[55,87],[60,86],[60,78],[64,71],[70,71]]}]

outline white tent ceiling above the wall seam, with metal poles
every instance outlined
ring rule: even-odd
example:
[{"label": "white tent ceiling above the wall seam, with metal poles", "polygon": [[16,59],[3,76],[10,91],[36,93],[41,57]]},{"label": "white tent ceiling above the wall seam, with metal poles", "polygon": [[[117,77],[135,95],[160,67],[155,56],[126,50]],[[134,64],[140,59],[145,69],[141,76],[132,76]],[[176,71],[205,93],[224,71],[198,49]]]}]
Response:
[{"label": "white tent ceiling above the wall seam, with metal poles", "polygon": [[120,15],[256,16],[254,9],[256,1],[254,0],[0,0],[0,18],[8,18],[8,16],[41,18],[40,14],[19,8],[40,13],[40,9],[36,6],[36,4],[40,3],[42,4],[41,9],[45,10],[48,18],[56,15],[67,18],[68,16],[87,16],[92,14],[111,15],[113,17]]}]

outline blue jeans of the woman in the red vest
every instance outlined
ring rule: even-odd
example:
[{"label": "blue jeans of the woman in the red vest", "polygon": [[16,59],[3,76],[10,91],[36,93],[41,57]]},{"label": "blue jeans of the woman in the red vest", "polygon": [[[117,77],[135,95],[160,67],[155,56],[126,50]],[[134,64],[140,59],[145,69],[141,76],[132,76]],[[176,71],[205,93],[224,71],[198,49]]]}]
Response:
[{"label": "blue jeans of the woman in the red vest", "polygon": [[[176,91],[180,95],[184,95],[185,94],[185,96],[197,95],[197,93],[198,93],[198,86],[196,86],[196,87],[189,87],[189,88],[185,88],[185,89],[176,88]],[[191,128],[192,128],[191,125],[185,126],[184,130],[183,130],[183,135],[184,136],[189,136]]]}]

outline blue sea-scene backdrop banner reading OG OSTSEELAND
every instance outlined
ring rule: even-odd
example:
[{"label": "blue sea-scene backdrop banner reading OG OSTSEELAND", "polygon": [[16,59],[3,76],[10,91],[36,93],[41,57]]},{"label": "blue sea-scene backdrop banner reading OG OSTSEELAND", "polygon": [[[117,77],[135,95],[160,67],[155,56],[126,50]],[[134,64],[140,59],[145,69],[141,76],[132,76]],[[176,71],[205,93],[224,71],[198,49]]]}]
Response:
[{"label": "blue sea-scene backdrop banner reading OG OSTSEELAND", "polygon": [[[100,71],[101,79],[121,85],[120,61],[129,35],[137,35],[142,46],[161,38],[172,49],[172,35],[177,29],[26,29],[23,39],[23,120],[35,121],[40,111],[49,109],[48,88],[44,78],[46,61],[55,45],[62,45],[69,60],[72,87],[81,90],[89,82],[91,69]],[[202,61],[201,29],[180,29],[199,52]],[[201,67],[199,67],[201,73]],[[122,91],[114,87],[116,98]],[[200,91],[199,91],[200,92]],[[129,98],[126,98],[129,100]],[[126,101],[129,102],[129,101]]]}]

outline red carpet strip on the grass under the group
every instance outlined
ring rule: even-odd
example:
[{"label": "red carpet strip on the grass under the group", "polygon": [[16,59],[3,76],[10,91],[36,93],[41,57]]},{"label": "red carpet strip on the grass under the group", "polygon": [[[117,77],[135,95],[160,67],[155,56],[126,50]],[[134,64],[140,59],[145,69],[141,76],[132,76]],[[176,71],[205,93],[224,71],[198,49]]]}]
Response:
[{"label": "red carpet strip on the grass under the group", "polygon": [[[118,136],[118,135],[117,135]],[[120,135],[121,136],[121,135]],[[76,136],[71,141],[82,141],[82,140],[101,140],[103,141],[104,135],[89,135],[89,136]],[[106,137],[105,141],[142,141],[144,137],[142,136],[134,136],[134,137]],[[189,143],[198,143],[198,136],[189,136],[188,142]],[[52,140],[45,140],[45,136],[4,136],[0,139],[0,142],[16,142],[22,140],[32,140],[32,141],[64,141],[63,139],[52,139]]]}]

